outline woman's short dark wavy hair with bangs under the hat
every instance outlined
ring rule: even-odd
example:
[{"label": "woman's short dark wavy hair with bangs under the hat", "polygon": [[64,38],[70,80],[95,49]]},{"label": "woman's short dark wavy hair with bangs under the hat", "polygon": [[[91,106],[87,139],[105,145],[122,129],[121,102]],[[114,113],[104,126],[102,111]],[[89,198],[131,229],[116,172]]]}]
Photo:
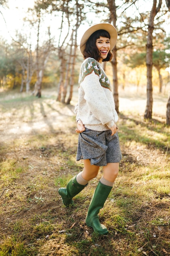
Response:
[{"label": "woman's short dark wavy hair with bangs under the hat", "polygon": [[[96,46],[96,40],[100,38],[100,36],[110,39],[110,34],[106,30],[100,29],[95,31],[86,42],[85,50],[83,52],[83,56],[85,59],[91,57],[91,58],[94,58],[96,61],[100,60],[101,55]],[[111,61],[112,57],[113,57],[113,54],[109,51],[109,53],[107,54],[107,57],[102,61]]]}]

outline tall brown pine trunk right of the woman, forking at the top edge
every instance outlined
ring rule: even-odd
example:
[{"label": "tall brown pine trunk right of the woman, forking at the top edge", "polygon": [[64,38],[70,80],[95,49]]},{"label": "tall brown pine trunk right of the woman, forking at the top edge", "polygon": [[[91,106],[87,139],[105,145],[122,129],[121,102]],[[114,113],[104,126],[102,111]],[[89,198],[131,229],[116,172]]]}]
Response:
[{"label": "tall brown pine trunk right of the woman, forking at the top edge", "polygon": [[161,8],[162,0],[159,0],[157,7],[157,0],[153,0],[153,7],[150,11],[150,18],[148,24],[148,37],[146,43],[146,67],[147,67],[147,103],[146,110],[144,113],[145,119],[152,118],[152,108],[153,108],[153,86],[152,86],[152,67],[153,67],[153,30],[154,30],[154,18],[157,12]]}]

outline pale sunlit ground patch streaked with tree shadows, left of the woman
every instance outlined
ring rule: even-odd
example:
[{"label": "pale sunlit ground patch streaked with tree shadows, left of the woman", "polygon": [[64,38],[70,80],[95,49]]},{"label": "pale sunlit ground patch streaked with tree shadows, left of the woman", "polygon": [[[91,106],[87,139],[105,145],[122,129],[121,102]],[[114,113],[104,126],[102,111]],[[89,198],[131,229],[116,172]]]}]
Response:
[{"label": "pale sunlit ground patch streaked with tree shadows, left of the woman", "polygon": [[33,101],[32,105],[22,103],[0,117],[0,141],[20,139],[27,135],[55,132],[67,129],[68,120],[74,116],[74,106],[63,106],[52,100]]}]

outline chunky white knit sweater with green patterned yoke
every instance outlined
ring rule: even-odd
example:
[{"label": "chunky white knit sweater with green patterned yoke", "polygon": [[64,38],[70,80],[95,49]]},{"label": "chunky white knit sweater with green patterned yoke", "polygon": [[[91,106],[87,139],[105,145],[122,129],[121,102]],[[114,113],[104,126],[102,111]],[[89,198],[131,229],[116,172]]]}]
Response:
[{"label": "chunky white knit sweater with green patterned yoke", "polygon": [[109,78],[94,58],[85,59],[81,65],[74,112],[76,120],[81,119],[91,130],[109,130],[118,121]]}]

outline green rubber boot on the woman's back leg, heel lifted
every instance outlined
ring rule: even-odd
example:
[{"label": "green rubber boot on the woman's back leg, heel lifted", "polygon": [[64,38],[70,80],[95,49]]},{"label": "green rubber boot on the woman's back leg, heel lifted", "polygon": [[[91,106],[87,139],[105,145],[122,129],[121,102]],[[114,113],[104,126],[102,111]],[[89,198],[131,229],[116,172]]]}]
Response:
[{"label": "green rubber boot on the woman's back leg, heel lifted", "polygon": [[66,188],[59,189],[59,195],[61,195],[63,199],[63,204],[65,204],[66,206],[72,204],[72,198],[78,193],[80,193],[85,188],[85,186],[88,185],[88,183],[86,185],[79,184],[76,181],[76,176],[72,177],[72,179],[68,182]]}]

